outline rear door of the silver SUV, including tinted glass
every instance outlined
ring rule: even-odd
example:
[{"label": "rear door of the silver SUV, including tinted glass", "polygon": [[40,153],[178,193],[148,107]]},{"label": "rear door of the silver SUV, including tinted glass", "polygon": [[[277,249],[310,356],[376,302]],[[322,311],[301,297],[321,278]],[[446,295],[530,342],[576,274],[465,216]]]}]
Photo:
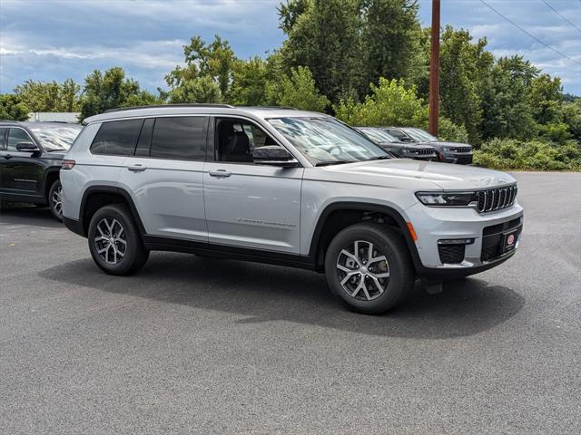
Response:
[{"label": "rear door of the silver SUV, including tinted glass", "polygon": [[147,118],[120,183],[132,192],[148,235],[208,241],[202,169],[206,116]]}]

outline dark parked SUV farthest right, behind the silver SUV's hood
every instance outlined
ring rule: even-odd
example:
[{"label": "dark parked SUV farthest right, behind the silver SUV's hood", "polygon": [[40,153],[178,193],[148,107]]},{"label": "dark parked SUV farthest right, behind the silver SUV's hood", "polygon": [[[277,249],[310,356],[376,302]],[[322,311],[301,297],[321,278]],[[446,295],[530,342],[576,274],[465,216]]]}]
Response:
[{"label": "dark parked SUV farthest right, behind the silver SUV's hood", "polygon": [[446,142],[439,140],[428,131],[413,127],[384,127],[391,136],[406,143],[422,143],[438,150],[439,160],[446,163],[469,165],[472,163],[472,147],[468,143]]}]

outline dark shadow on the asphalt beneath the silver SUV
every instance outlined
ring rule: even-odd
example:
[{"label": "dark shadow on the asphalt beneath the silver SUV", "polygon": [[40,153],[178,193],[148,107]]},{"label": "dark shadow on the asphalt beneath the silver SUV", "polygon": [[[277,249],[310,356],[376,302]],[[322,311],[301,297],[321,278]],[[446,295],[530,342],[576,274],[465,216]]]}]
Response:
[{"label": "dark shadow on the asphalt beneath the silver SUV", "polygon": [[407,300],[388,314],[355,314],[330,294],[324,275],[173,253],[153,253],[132,276],[104,275],[91,258],[54,266],[39,275],[101,292],[241,314],[245,316],[238,320],[241,324],[288,321],[424,339],[486,331],[517,314],[525,302],[507,287],[468,278],[445,285],[438,295],[428,295],[416,285]]}]

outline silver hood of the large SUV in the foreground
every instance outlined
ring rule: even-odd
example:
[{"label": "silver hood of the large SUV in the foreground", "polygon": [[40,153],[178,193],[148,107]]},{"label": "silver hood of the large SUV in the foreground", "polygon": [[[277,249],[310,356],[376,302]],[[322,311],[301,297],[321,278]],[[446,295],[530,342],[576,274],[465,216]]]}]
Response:
[{"label": "silver hood of the large SUV in the foreground", "polygon": [[409,159],[371,160],[320,167],[323,179],[409,189],[469,190],[506,186],[516,182],[492,169]]}]

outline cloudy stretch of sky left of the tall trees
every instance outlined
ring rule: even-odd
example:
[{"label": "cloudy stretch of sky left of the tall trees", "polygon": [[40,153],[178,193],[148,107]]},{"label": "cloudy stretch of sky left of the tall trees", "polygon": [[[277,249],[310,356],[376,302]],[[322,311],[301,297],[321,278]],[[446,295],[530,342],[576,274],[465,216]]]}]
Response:
[{"label": "cloudy stretch of sky left of the tall trees", "polygon": [[243,58],[283,39],[274,0],[1,1],[0,92],[29,78],[83,81],[111,66],[153,91],[183,62],[194,35],[210,41],[220,34]]}]

